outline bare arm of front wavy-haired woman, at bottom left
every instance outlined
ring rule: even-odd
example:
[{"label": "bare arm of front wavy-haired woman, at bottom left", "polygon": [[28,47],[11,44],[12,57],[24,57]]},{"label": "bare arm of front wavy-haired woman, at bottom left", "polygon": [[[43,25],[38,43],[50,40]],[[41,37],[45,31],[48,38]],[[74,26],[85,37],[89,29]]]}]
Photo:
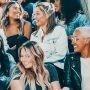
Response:
[{"label": "bare arm of front wavy-haired woman, at bottom left", "polygon": [[11,90],[23,90],[20,80],[12,80],[10,88]]}]

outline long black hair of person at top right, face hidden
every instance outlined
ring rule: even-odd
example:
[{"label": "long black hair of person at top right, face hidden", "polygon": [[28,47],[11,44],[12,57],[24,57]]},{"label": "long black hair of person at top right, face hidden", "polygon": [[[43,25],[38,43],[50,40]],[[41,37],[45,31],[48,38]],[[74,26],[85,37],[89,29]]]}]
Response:
[{"label": "long black hair of person at top right, face hidden", "polygon": [[61,0],[61,12],[68,24],[78,11],[82,11],[80,0]]}]

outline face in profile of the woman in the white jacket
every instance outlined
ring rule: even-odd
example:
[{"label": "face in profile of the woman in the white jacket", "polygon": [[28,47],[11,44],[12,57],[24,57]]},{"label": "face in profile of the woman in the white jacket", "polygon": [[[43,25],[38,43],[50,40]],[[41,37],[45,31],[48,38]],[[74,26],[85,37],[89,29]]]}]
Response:
[{"label": "face in profile of the woman in the white jacket", "polygon": [[47,15],[39,7],[36,8],[35,15],[37,26],[42,27],[47,23]]}]

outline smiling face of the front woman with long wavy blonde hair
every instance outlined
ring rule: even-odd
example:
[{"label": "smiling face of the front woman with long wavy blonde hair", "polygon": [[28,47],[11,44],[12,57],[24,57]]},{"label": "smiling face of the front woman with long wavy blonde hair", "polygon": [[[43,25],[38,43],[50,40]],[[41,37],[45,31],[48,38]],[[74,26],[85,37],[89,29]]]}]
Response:
[{"label": "smiling face of the front woman with long wavy blonde hair", "polygon": [[22,62],[25,68],[32,68],[35,65],[35,58],[30,53],[29,49],[21,49],[20,61]]}]

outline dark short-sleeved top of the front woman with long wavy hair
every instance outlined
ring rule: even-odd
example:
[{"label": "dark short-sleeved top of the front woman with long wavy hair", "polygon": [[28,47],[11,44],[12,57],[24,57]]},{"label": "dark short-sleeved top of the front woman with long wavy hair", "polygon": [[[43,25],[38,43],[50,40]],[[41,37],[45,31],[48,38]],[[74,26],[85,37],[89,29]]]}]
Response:
[{"label": "dark short-sleeved top of the front woman with long wavy hair", "polygon": [[[55,67],[52,64],[45,64],[45,67],[48,70],[49,75],[50,75],[49,82],[51,83],[51,82],[54,82],[54,81],[58,81],[58,74],[57,74],[57,71],[56,71]],[[13,80],[20,79],[20,76],[21,76],[20,75],[20,70],[18,68],[16,68],[16,69],[14,68],[14,71],[13,71],[11,76],[12,76],[11,78]],[[30,90],[30,87],[29,87],[28,84],[25,85],[25,86],[26,86],[25,90]],[[42,90],[41,86],[36,84],[36,90]]]}]

